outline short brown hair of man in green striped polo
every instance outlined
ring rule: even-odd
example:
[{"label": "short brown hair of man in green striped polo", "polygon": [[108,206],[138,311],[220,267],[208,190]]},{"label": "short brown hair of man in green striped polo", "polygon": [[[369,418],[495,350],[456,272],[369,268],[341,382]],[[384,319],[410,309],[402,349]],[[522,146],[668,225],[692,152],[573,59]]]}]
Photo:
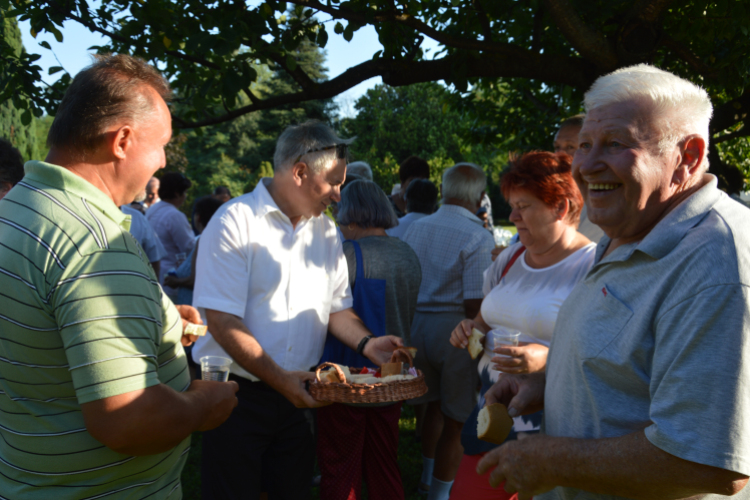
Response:
[{"label": "short brown hair of man in green striped polo", "polygon": [[84,157],[101,143],[104,129],[116,120],[137,121],[155,109],[145,92],[154,89],[165,102],[171,90],[150,64],[126,54],[95,55],[65,92],[47,135],[47,145]]}]

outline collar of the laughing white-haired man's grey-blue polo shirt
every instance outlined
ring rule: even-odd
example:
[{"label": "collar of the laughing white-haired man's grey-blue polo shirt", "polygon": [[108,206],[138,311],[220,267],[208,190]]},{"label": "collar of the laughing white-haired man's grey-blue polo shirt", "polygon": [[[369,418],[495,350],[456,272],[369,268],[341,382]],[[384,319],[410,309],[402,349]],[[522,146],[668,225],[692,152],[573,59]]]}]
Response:
[{"label": "collar of the laughing white-haired man's grey-blue polo shirt", "polygon": [[[639,250],[654,259],[661,259],[671,252],[682,241],[687,232],[697,226],[716,203],[726,196],[717,187],[716,176],[706,174],[709,182],[686,200],[677,205],[639,242],[629,243],[615,249],[607,261],[625,261]],[[609,245],[610,239],[604,236],[596,248],[596,260],[599,262]]]}]

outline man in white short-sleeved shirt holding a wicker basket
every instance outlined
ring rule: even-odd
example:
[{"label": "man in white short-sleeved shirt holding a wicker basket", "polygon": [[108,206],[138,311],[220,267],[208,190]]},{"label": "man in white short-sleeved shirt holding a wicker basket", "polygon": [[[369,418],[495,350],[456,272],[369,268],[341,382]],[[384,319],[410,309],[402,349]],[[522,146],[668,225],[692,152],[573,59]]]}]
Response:
[{"label": "man in white short-sleeved shirt holding a wicker basket", "polygon": [[205,500],[309,498],[309,409],[320,404],[305,382],[326,331],[378,365],[401,344],[372,338],[352,310],[342,245],[322,215],[341,199],[347,143],[320,122],[287,128],[274,177],[222,206],[201,237],[193,303],[211,335],[193,357],[231,357],[240,384],[231,421],[203,434]]}]

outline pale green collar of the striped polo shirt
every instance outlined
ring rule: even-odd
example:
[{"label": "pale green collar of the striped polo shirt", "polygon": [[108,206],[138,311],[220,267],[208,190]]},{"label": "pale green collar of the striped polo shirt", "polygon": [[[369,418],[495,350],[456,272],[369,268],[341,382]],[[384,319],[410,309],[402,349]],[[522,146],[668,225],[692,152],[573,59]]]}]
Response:
[{"label": "pale green collar of the striped polo shirt", "polygon": [[24,165],[24,172],[25,179],[65,191],[68,195],[85,198],[117,225],[130,225],[130,216],[125,215],[109,196],[67,168],[43,161],[29,161]]}]

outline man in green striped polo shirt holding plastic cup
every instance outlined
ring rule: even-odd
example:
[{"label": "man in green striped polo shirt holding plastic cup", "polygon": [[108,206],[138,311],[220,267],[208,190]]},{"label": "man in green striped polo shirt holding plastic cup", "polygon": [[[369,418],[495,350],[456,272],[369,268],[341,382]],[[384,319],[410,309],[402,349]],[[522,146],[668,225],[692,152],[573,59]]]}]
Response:
[{"label": "man in green striped polo shirt holding plastic cup", "polygon": [[79,73],[46,162],[0,201],[0,497],[180,498],[190,434],[233,382],[190,380],[181,314],[128,232],[165,164],[169,86],[101,56]]}]

